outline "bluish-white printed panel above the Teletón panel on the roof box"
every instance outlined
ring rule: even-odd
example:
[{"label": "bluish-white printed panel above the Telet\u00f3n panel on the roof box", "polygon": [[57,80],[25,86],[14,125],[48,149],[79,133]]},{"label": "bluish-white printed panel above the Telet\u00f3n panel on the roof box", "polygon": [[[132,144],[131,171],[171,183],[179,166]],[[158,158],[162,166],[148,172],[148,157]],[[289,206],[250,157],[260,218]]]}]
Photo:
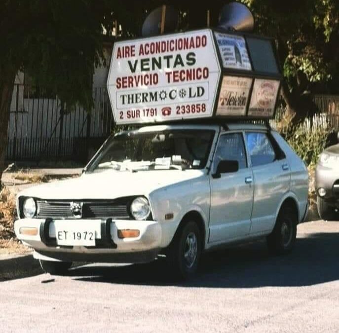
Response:
[{"label": "bluish-white printed panel above the Telet\u00f3n panel on the roof box", "polygon": [[214,34],[225,68],[252,70],[244,37],[221,33]]}]

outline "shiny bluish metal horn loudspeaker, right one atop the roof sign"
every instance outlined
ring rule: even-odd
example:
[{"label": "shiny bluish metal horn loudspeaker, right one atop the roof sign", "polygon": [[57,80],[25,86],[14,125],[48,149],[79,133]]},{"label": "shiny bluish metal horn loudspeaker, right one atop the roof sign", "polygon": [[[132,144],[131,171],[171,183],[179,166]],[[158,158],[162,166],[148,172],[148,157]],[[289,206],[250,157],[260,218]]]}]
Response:
[{"label": "shiny bluish metal horn loudspeaker, right one atop the roof sign", "polygon": [[219,28],[229,31],[252,32],[254,18],[250,9],[240,2],[230,2],[223,6],[219,16]]}]

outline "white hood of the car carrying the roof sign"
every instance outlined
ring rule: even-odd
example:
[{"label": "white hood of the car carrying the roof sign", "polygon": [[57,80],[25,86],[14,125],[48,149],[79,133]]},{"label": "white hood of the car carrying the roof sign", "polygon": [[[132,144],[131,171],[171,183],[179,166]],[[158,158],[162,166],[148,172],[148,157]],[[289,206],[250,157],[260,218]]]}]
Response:
[{"label": "white hood of the car carrying the roof sign", "polygon": [[81,200],[114,199],[149,194],[158,188],[204,175],[203,170],[130,171],[104,170],[83,174],[78,178],[37,185],[23,190],[19,196],[40,199]]}]

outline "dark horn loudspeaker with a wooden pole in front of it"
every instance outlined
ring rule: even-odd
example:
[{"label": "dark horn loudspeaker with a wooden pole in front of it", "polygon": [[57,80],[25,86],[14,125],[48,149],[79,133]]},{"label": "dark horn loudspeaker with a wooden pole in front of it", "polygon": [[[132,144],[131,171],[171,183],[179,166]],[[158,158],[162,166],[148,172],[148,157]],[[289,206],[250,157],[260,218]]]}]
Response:
[{"label": "dark horn loudspeaker with a wooden pole in front of it", "polygon": [[[152,37],[161,33],[162,6],[155,8],[144,21],[142,28],[143,37]],[[164,33],[172,33],[177,28],[178,11],[171,6],[166,6]]]}]

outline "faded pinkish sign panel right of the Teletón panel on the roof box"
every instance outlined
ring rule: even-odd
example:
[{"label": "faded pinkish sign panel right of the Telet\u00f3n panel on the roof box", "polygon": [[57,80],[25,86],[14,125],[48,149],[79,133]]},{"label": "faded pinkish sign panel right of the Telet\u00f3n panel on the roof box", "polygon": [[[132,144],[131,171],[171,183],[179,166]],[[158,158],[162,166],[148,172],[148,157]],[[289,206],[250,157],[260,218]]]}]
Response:
[{"label": "faded pinkish sign panel right of the Telet\u00f3n panel on the roof box", "polygon": [[279,91],[279,81],[256,78],[248,110],[249,116],[271,117]]}]

